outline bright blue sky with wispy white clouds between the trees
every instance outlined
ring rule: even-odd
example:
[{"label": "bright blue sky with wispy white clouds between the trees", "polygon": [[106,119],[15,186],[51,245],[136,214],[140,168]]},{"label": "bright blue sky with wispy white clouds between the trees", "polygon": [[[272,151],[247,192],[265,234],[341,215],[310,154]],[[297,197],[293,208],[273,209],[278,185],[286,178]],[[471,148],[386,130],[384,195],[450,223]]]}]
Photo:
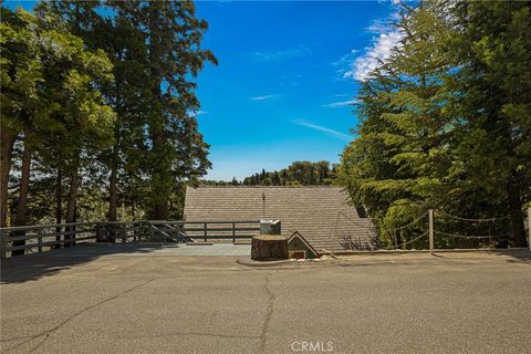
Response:
[{"label": "bright blue sky with wispy white clouds between the trees", "polygon": [[[8,6],[33,2],[8,1]],[[242,179],[294,160],[337,163],[354,138],[348,104],[399,34],[385,1],[198,1],[205,48],[219,61],[199,74],[197,115],[211,145],[208,179]]]}]

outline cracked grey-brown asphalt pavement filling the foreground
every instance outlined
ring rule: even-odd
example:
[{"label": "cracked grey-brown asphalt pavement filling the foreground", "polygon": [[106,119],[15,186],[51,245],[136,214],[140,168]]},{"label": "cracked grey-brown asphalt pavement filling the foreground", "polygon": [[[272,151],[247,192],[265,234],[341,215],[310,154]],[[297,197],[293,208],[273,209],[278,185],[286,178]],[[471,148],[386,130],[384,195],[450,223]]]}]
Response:
[{"label": "cracked grey-brown asphalt pavement filling the foreground", "polygon": [[529,254],[52,253],[2,262],[2,353],[531,352]]}]

